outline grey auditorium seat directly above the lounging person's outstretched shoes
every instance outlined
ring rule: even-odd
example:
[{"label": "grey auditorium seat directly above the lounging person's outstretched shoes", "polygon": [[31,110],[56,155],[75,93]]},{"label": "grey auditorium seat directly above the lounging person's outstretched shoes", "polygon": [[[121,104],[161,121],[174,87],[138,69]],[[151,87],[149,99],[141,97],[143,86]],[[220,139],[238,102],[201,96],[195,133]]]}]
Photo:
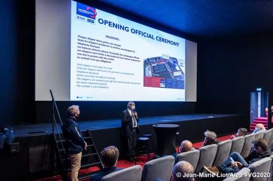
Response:
[{"label": "grey auditorium seat directly above the lounging person's outstretched shoes", "polygon": [[208,146],[203,146],[199,149],[200,151],[200,156],[198,160],[198,164],[195,169],[195,173],[203,172],[203,166],[208,166],[211,167],[212,163],[214,161],[216,152],[217,152],[217,145],[208,145]]}]

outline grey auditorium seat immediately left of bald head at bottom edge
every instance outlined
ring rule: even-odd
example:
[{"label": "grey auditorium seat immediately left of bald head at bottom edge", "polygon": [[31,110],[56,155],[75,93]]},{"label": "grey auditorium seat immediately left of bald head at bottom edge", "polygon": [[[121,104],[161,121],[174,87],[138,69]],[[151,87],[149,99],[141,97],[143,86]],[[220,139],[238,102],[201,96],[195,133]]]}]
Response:
[{"label": "grey auditorium seat immediately left of bald head at bottom edge", "polygon": [[173,156],[165,156],[162,158],[148,161],[143,167],[141,181],[156,180],[157,178],[170,180],[173,165]]}]

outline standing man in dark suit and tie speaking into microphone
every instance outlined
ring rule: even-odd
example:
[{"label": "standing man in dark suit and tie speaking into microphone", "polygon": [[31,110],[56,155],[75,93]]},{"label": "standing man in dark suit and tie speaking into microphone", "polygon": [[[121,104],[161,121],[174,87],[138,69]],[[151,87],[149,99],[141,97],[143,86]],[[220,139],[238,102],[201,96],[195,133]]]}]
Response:
[{"label": "standing man in dark suit and tie speaking into microphone", "polygon": [[138,113],[136,113],[134,102],[128,102],[127,109],[121,112],[120,118],[121,136],[125,138],[127,157],[130,162],[133,162],[136,145],[136,133],[140,133],[139,117]]}]

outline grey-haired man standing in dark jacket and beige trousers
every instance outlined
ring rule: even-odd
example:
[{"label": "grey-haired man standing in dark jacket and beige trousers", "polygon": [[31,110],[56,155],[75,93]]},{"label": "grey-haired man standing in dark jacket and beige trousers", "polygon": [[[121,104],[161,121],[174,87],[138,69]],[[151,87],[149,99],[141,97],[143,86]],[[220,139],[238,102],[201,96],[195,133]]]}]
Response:
[{"label": "grey-haired man standing in dark jacket and beige trousers", "polygon": [[83,140],[79,126],[76,123],[79,114],[79,106],[71,105],[67,110],[67,119],[65,120],[62,128],[71,161],[71,181],[78,180],[81,152],[83,149],[87,148],[87,144]]}]

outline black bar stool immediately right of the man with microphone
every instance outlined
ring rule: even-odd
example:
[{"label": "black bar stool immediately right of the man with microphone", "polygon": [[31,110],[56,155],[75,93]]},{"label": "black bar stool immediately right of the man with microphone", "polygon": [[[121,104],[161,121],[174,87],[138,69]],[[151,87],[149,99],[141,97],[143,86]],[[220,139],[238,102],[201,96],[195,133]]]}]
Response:
[{"label": "black bar stool immediately right of the man with microphone", "polygon": [[150,150],[149,150],[149,138],[138,138],[138,146],[136,149],[136,162],[140,161],[140,155],[147,155],[148,161],[151,160]]}]

